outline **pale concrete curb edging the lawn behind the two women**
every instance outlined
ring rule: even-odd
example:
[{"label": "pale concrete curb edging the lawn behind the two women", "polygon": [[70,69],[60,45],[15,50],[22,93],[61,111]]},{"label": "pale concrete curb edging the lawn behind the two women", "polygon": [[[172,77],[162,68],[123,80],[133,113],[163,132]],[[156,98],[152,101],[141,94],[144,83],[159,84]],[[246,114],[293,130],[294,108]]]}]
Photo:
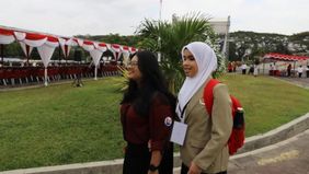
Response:
[{"label": "pale concrete curb edging the lawn behind the two women", "polygon": [[[241,156],[241,153],[284,141],[307,129],[309,129],[309,113],[266,134],[247,138],[243,148],[236,155],[231,156],[231,159]],[[180,165],[180,154],[174,153],[174,167],[179,167]],[[121,174],[122,167],[123,159],[116,159],[102,162],[4,171],[0,172],[0,174]]]}]

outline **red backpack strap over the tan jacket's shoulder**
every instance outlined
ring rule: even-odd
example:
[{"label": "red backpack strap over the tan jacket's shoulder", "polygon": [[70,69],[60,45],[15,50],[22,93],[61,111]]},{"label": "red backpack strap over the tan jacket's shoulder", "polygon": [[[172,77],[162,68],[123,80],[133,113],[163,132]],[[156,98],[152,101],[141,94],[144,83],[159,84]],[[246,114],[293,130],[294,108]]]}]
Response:
[{"label": "red backpack strap over the tan jacket's shoulder", "polygon": [[205,107],[209,116],[211,116],[213,104],[214,104],[214,92],[213,91],[214,91],[215,85],[217,85],[218,83],[220,83],[220,81],[216,79],[210,79],[204,89],[203,98],[204,98]]}]

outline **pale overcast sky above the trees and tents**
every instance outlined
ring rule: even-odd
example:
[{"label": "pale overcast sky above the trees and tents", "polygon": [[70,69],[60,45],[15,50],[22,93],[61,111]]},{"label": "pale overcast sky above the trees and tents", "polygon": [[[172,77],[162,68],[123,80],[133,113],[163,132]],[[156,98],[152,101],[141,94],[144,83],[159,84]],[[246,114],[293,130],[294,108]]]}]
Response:
[{"label": "pale overcast sky above the trees and tents", "polygon": [[[72,35],[134,34],[159,19],[160,0],[0,0],[0,25]],[[308,0],[162,0],[162,20],[188,12],[230,15],[230,32],[295,34],[309,31]]]}]

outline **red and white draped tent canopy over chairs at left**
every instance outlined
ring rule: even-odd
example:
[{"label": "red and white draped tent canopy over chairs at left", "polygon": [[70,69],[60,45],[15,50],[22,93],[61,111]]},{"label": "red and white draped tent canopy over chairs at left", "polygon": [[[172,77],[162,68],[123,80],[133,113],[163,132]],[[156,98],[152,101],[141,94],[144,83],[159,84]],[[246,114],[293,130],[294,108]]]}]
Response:
[{"label": "red and white draped tent canopy over chairs at left", "polygon": [[84,50],[89,51],[95,66],[95,80],[100,59],[104,51],[107,49],[112,50],[116,60],[118,60],[122,53],[130,54],[137,50],[134,47],[122,46],[117,44],[105,44],[92,40],[83,40],[75,37],[54,36],[50,34],[41,34],[37,32],[0,26],[0,46],[11,44],[14,40],[20,43],[27,59],[30,58],[33,48],[37,48],[45,68],[45,85],[47,85],[47,67],[50,62],[50,58],[55,51],[55,48],[58,46],[60,46],[65,58],[69,56],[72,46],[80,46]]}]

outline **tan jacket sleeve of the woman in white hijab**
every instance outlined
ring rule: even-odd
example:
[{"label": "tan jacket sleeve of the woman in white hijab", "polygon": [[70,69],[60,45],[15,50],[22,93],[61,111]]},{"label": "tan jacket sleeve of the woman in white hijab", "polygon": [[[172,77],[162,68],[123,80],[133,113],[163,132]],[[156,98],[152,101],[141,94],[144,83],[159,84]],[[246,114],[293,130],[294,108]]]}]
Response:
[{"label": "tan jacket sleeve of the woman in white hijab", "polygon": [[225,84],[214,88],[214,105],[211,111],[211,136],[205,148],[193,162],[202,170],[207,170],[219,155],[229,140],[232,129],[231,100]]}]

